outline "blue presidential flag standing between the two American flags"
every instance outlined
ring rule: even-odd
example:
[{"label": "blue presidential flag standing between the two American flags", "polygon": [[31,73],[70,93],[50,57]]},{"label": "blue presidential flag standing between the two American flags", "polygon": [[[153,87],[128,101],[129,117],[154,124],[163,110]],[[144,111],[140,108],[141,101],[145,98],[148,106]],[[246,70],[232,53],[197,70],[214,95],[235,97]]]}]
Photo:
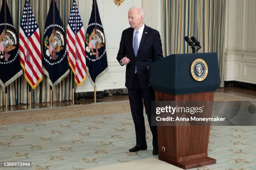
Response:
[{"label": "blue presidential flag standing between the two American flags", "polygon": [[51,1],[44,26],[43,50],[43,71],[53,87],[69,74],[65,30],[55,0]]}]

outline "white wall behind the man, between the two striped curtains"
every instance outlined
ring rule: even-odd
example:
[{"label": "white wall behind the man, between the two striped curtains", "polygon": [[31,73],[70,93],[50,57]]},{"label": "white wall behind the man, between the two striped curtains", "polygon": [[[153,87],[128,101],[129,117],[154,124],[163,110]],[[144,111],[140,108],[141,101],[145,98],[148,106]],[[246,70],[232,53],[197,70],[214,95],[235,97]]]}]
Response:
[{"label": "white wall behind the man, between the two striped curtains", "polygon": [[[92,0],[77,0],[84,28],[87,28]],[[97,91],[125,88],[125,66],[121,67],[116,60],[123,30],[129,28],[128,9],[133,6],[142,7],[145,11],[144,23],[161,33],[161,0],[124,0],[119,7],[113,0],[97,0],[100,19],[106,38],[108,71],[96,81]],[[89,77],[77,87],[76,92],[94,91]]]}]

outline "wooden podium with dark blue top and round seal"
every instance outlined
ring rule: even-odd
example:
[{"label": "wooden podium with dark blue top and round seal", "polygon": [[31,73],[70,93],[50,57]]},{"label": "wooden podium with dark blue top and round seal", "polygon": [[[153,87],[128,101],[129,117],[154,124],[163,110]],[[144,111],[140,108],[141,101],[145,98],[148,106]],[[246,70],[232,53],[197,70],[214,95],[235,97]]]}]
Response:
[{"label": "wooden podium with dark blue top and round seal", "polygon": [[[191,64],[198,58],[208,67],[208,75],[203,81],[196,81],[190,72]],[[216,53],[170,55],[153,62],[150,69],[150,84],[155,90],[156,102],[213,102],[214,91],[220,85]],[[211,116],[212,108],[207,114]],[[158,126],[157,133],[159,160],[183,169],[216,163],[207,155],[210,125]]]}]

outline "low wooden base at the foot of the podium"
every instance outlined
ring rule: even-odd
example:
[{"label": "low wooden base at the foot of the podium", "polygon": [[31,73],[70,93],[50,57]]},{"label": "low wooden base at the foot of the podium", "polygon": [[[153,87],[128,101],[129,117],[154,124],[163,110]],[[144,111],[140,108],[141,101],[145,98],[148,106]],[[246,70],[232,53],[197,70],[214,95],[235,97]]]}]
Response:
[{"label": "low wooden base at the foot of the podium", "polygon": [[[161,159],[160,159],[161,160]],[[210,157],[205,157],[205,158],[198,158],[198,159],[193,159],[193,160],[186,160],[183,162],[175,162],[172,160],[163,160],[166,163],[170,163],[174,166],[177,166],[179,168],[182,168],[184,170],[192,169],[192,168],[197,168],[197,167],[202,167],[206,165],[212,165],[216,163],[216,160]]]}]

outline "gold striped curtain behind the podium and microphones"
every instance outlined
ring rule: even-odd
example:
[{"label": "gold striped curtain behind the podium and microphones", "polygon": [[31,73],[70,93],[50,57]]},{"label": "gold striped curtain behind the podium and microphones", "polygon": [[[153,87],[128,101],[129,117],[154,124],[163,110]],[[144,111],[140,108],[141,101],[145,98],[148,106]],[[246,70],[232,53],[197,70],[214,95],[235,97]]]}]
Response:
[{"label": "gold striped curtain behind the podium and microphones", "polygon": [[195,36],[201,42],[199,52],[217,52],[221,85],[224,86],[224,33],[226,0],[164,0],[164,55],[192,53],[184,41]]}]

